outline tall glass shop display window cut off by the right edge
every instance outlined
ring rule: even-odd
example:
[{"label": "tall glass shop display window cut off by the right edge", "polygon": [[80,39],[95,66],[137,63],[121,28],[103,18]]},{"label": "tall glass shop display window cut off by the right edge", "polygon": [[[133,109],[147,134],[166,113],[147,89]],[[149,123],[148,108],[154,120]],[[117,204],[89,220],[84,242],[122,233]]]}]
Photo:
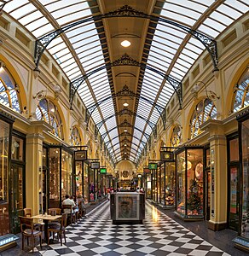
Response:
[{"label": "tall glass shop display window cut off by the right edge", "polygon": [[240,146],[240,221],[235,247],[249,252],[249,111],[237,117]]}]

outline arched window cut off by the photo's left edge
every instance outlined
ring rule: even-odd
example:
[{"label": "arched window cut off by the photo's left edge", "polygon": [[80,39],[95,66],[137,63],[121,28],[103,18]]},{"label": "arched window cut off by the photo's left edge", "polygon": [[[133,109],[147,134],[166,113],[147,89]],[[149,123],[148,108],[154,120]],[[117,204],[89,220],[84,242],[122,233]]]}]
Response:
[{"label": "arched window cut off by the photo's left edge", "polygon": [[17,84],[4,67],[0,67],[0,104],[22,113],[20,109],[20,93]]}]

